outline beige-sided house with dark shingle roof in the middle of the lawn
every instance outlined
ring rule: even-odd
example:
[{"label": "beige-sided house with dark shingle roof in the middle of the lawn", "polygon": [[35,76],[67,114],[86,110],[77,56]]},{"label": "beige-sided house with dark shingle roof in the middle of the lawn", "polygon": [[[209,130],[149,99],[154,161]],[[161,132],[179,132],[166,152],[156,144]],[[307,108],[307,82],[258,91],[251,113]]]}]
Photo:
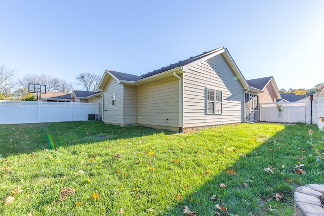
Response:
[{"label": "beige-sided house with dark shingle roof in the middle of the lawn", "polygon": [[245,121],[249,88],[226,48],[136,76],[106,70],[98,91],[106,123],[188,131]]}]

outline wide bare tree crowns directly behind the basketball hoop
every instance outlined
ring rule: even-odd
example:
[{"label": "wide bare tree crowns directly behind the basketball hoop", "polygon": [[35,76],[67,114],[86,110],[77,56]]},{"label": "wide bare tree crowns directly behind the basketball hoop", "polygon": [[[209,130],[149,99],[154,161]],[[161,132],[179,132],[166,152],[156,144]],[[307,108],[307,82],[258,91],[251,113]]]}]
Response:
[{"label": "wide bare tree crowns directly behind the basketball hoop", "polygon": [[66,80],[59,79],[49,74],[26,74],[22,79],[19,79],[19,84],[22,85],[22,87],[28,87],[28,83],[46,85],[47,92],[69,93],[72,90],[71,84]]}]

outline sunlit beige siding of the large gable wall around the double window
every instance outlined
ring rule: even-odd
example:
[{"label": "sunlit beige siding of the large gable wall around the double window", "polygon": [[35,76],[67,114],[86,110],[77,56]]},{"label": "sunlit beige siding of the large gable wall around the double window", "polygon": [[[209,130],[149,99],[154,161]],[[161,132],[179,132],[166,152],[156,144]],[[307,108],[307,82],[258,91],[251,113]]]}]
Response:
[{"label": "sunlit beige siding of the large gable wall around the double window", "polygon": [[[222,114],[207,114],[206,89],[222,91]],[[183,75],[183,127],[243,121],[244,89],[222,55],[189,68]]]}]

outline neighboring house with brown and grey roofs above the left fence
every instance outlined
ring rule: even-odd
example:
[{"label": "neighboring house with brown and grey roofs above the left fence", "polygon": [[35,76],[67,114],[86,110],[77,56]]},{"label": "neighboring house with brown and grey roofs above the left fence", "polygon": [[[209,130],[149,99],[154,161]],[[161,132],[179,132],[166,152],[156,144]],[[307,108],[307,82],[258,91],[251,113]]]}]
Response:
[{"label": "neighboring house with brown and grey roofs above the left fence", "polygon": [[[98,119],[102,115],[102,97],[100,92],[73,90],[72,93],[47,92],[39,94],[40,101],[98,103]],[[89,113],[91,114],[91,113]]]}]

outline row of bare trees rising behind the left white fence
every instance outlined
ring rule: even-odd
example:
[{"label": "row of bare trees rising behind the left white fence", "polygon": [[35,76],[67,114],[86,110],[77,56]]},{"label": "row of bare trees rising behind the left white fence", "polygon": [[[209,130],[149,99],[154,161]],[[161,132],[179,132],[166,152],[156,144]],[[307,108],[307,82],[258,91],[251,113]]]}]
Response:
[{"label": "row of bare trees rising behind the left white fence", "polygon": [[[28,83],[46,85],[47,92],[70,93],[74,83],[49,74],[25,74],[17,78],[18,72],[0,65],[0,100],[35,101],[35,95],[28,93]],[[85,91],[96,91],[101,76],[93,73],[80,73],[76,84]]]}]

